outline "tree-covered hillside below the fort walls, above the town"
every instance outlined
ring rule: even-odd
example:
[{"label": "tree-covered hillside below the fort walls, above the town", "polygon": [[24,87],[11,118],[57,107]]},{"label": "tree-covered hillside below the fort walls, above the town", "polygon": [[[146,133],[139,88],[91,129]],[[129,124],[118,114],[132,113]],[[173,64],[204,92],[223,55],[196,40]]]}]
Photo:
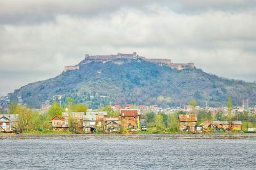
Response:
[{"label": "tree-covered hillside below the fort walls, above the town", "polygon": [[74,97],[76,102],[96,108],[106,104],[159,104],[180,106],[196,99],[198,105],[222,106],[232,96],[233,104],[243,99],[256,101],[256,84],[227,80],[201,69],[171,69],[135,59],[124,64],[90,62],[80,69],[61,73],[55,78],[30,83],[12,95],[32,107],[54,95]]}]

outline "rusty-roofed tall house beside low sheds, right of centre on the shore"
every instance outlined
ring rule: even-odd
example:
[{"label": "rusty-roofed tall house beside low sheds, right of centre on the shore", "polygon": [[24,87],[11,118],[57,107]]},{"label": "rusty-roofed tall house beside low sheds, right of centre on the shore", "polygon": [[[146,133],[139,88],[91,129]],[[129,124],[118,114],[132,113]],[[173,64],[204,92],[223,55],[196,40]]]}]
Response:
[{"label": "rusty-roofed tall house beside low sheds, right of centre on the shore", "polygon": [[180,131],[196,131],[196,114],[179,115],[179,130]]}]

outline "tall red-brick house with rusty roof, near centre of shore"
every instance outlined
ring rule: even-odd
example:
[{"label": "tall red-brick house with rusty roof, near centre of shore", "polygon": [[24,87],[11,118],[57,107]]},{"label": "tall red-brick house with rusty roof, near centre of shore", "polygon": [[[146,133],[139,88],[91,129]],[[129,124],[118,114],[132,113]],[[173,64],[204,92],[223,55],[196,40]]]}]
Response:
[{"label": "tall red-brick house with rusty roof, near centre of shore", "polygon": [[122,127],[127,129],[140,129],[140,110],[122,109],[120,110]]}]

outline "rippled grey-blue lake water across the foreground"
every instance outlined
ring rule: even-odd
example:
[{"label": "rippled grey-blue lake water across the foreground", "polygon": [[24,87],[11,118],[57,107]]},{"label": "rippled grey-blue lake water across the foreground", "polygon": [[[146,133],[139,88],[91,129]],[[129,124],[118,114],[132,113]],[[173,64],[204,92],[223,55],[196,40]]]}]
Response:
[{"label": "rippled grey-blue lake water across the foreground", "polygon": [[247,139],[0,141],[1,169],[249,169],[256,141]]}]

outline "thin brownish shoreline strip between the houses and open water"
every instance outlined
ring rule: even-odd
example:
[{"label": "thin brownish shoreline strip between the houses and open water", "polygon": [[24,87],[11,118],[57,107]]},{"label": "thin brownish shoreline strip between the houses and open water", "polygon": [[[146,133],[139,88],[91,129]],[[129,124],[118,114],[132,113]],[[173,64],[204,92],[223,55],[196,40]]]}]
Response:
[{"label": "thin brownish shoreline strip between the houses and open water", "polygon": [[1,134],[4,139],[256,139],[256,134]]}]

